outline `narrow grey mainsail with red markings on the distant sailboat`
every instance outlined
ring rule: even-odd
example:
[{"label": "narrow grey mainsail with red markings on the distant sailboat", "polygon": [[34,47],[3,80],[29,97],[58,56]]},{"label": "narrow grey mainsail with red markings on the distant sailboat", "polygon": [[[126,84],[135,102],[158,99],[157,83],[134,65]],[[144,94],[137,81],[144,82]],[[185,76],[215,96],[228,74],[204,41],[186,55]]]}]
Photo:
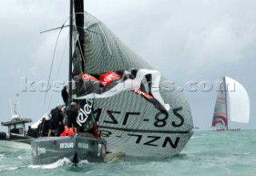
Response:
[{"label": "narrow grey mainsail with red markings on the distant sailboat", "polygon": [[227,122],[227,110],[226,110],[226,84],[224,78],[220,78],[218,82],[218,94],[214,107],[214,117],[211,126],[226,129]]}]

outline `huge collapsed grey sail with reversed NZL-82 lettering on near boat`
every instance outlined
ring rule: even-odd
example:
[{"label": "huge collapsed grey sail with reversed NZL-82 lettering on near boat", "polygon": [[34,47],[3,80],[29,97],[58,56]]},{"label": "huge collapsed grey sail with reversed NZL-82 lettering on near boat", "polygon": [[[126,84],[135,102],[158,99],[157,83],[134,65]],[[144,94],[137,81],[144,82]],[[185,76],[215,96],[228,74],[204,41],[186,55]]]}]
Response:
[{"label": "huge collapsed grey sail with reversed NZL-82 lettering on near boat", "polygon": [[[75,11],[79,13],[78,10]],[[149,81],[150,73],[143,75],[138,88],[157,99],[159,104],[165,106],[165,110],[159,109],[149,99],[141,96],[142,94],[135,94],[134,87],[105,97],[101,97],[102,93],[111,93],[109,91],[111,89],[107,86],[98,89],[99,94],[95,90],[90,90],[95,89],[95,75],[121,71],[122,74],[118,74],[121,78],[113,85],[116,88],[125,82],[126,79],[123,77],[126,74],[123,73],[127,70],[152,71],[152,67],[125,46],[97,18],[86,12],[83,18],[84,22],[80,22],[83,26],[76,26],[74,19],[76,27],[74,27],[73,78],[86,74],[90,75],[88,77],[90,79],[76,80],[73,98],[75,101],[83,101],[80,102],[81,115],[78,117],[78,124],[89,127],[91,123],[88,123],[88,119],[89,121],[97,119],[98,129],[101,137],[107,141],[109,152],[122,151],[127,155],[147,157],[178,154],[193,134],[190,105],[186,98],[161,74],[159,74],[158,86],[154,87],[160,98],[154,93],[150,94],[155,83]],[[134,78],[137,76],[138,73],[134,74]],[[81,84],[79,80],[82,80]],[[91,84],[88,86],[88,83]],[[89,91],[88,94],[91,96],[82,98],[86,94],[78,94],[81,90],[83,93]]]}]

